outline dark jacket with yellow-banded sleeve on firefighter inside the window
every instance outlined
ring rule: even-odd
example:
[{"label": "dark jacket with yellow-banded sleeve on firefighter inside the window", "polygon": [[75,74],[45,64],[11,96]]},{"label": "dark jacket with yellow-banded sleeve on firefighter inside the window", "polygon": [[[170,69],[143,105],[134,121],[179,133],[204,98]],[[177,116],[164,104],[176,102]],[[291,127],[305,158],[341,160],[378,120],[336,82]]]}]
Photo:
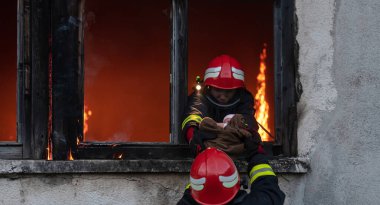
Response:
[{"label": "dark jacket with yellow-banded sleeve on firefighter inside the window", "polygon": [[182,134],[185,136],[189,127],[198,127],[204,117],[210,117],[216,122],[222,122],[228,114],[242,114],[248,124],[249,130],[259,129],[254,119],[254,99],[246,89],[239,89],[229,104],[219,104],[211,95],[194,92],[188,97],[185,108],[184,120],[182,121]]}]

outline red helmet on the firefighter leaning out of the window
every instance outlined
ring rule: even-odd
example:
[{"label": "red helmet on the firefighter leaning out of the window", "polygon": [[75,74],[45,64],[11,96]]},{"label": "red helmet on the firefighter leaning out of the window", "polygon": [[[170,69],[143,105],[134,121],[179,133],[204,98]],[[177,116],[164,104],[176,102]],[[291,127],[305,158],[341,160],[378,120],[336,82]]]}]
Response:
[{"label": "red helmet on the firefighter leaning out of the window", "polygon": [[204,84],[220,89],[243,88],[244,71],[236,59],[221,55],[209,63],[205,71]]}]

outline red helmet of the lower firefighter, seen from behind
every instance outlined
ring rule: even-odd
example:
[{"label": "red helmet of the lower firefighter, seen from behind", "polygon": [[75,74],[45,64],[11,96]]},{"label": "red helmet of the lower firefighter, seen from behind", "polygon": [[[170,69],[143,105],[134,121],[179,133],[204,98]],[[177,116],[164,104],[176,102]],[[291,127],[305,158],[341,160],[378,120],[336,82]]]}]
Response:
[{"label": "red helmet of the lower firefighter, seen from behind", "polygon": [[226,204],[240,189],[240,177],[234,162],[216,148],[200,153],[191,166],[191,196],[202,205]]}]

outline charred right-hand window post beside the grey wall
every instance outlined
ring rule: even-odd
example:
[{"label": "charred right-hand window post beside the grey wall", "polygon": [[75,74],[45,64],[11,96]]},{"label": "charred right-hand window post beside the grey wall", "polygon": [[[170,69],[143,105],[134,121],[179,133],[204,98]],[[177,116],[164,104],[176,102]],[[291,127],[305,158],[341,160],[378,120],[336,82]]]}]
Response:
[{"label": "charred right-hand window post beside the grey wall", "polygon": [[[297,156],[297,102],[302,94],[298,75],[295,1],[274,1],[275,130],[273,152]],[[275,154],[275,155],[277,155]]]}]

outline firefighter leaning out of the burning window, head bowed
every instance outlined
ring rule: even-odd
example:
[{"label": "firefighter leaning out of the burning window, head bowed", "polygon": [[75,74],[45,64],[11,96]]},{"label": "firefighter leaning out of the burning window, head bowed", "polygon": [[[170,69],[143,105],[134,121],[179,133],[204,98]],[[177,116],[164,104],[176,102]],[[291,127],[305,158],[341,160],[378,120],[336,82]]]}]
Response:
[{"label": "firefighter leaning out of the burning window, head bowed", "polygon": [[245,88],[244,71],[239,62],[228,55],[221,55],[210,61],[205,70],[203,88],[195,90],[187,101],[182,135],[190,144],[194,155],[205,149],[205,140],[215,139],[216,135],[199,131],[204,117],[218,123],[229,114],[242,114],[248,130],[257,132],[254,119],[254,98]]}]

